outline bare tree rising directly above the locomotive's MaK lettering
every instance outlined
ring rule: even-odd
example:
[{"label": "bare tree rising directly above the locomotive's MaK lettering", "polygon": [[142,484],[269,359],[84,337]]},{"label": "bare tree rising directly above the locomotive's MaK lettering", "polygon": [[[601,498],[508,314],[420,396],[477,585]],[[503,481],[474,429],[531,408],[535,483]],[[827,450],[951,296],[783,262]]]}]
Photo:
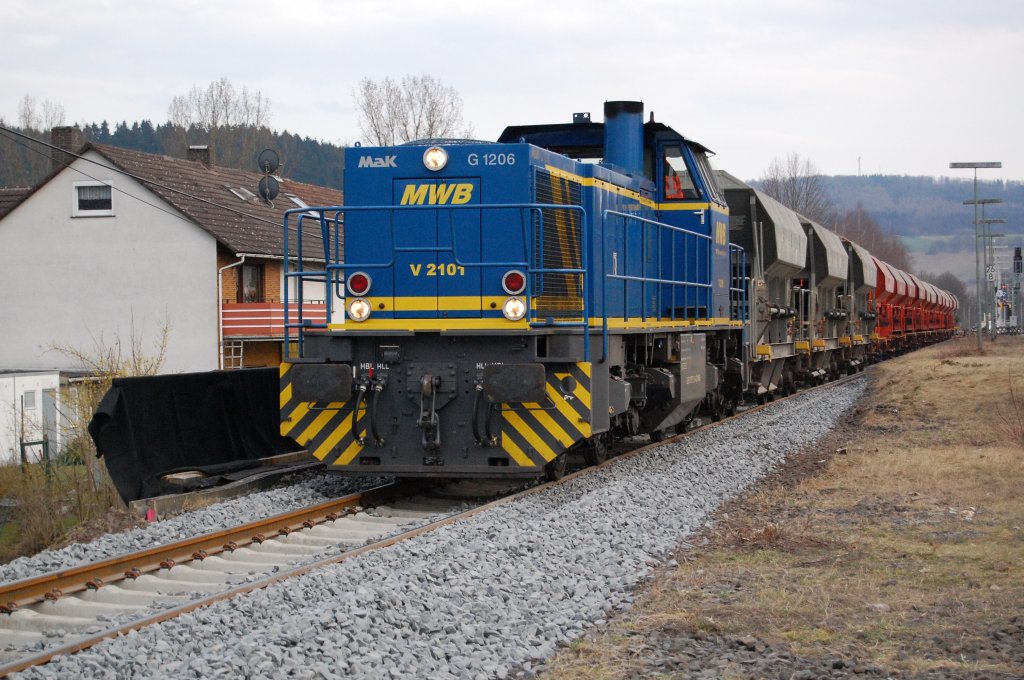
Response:
[{"label": "bare tree rising directly above the locomotive's MaK lettering", "polygon": [[462,97],[454,87],[423,74],[359,81],[352,91],[359,130],[369,143],[391,144],[433,137],[469,137],[472,126],[462,119]]}]

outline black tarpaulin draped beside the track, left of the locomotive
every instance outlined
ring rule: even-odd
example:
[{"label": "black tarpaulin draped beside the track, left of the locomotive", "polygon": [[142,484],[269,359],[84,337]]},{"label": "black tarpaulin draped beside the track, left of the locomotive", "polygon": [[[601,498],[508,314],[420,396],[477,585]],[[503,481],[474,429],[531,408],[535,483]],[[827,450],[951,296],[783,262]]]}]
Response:
[{"label": "black tarpaulin draped beside the track, left of the locomotive", "polygon": [[222,474],[298,451],[278,410],[278,369],[117,378],[89,434],[127,503],[181,491],[160,480],[169,472]]}]

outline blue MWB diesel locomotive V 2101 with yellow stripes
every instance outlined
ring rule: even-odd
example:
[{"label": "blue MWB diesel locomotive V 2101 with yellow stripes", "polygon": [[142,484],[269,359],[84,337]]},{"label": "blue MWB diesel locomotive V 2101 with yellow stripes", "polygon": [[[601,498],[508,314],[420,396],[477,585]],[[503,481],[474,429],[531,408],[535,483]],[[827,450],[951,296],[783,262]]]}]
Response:
[{"label": "blue MWB diesel locomotive V 2101 with yellow stripes", "polygon": [[745,261],[709,154],[636,101],[346,150],[345,205],[286,219],[284,297],[329,313],[288,325],[282,434],[335,471],[557,478],[729,411]]}]

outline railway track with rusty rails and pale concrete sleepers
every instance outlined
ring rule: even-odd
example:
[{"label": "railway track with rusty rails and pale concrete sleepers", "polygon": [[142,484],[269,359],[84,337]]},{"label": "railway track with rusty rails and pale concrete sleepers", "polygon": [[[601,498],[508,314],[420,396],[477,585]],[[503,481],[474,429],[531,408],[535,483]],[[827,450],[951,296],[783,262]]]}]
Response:
[{"label": "railway track with rusty rails and pale concrete sleepers", "polygon": [[[634,440],[632,448],[616,448],[614,454],[616,459],[629,458],[688,435],[642,444]],[[0,676],[393,545],[590,469],[469,509],[459,507],[465,499],[417,496],[411,484],[389,484],[232,529],[0,586]],[[431,519],[438,515],[443,516]],[[411,524],[418,525],[410,528]]]}]

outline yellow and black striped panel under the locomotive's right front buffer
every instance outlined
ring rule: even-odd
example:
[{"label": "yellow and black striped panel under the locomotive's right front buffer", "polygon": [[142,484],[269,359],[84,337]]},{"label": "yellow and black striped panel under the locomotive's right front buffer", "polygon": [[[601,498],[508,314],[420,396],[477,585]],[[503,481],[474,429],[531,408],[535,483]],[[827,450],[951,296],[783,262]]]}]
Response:
[{"label": "yellow and black striped panel under the locomotive's right front buffer", "polygon": [[[566,398],[561,388],[568,377],[575,385],[571,398]],[[589,363],[549,372],[547,393],[542,403],[501,405],[501,448],[520,467],[543,466],[591,435]]]}]

